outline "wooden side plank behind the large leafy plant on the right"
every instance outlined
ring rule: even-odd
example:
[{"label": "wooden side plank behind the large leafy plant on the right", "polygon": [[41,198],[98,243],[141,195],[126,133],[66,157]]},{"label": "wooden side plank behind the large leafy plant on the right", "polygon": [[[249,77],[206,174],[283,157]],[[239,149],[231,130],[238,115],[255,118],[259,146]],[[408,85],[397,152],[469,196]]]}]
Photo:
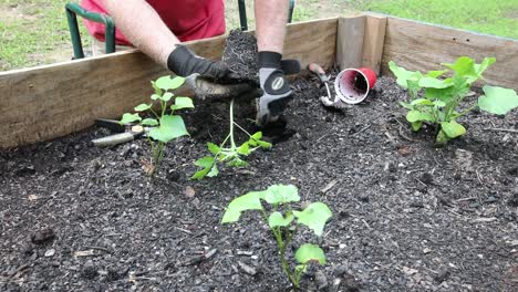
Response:
[{"label": "wooden side plank behind the large leafy plant on the right", "polygon": [[459,56],[497,62],[486,72],[488,84],[518,90],[518,40],[475,33],[390,17],[387,19],[382,73],[391,74],[388,61],[407,70],[438,70]]}]

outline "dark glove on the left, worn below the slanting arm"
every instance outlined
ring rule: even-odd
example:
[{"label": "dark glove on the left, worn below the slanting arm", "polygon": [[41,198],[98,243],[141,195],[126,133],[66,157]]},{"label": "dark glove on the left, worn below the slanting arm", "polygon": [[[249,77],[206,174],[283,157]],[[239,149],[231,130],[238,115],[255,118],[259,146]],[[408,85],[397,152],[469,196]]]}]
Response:
[{"label": "dark glove on the left, worn below the slanting arm", "polygon": [[169,54],[167,67],[186,77],[187,84],[200,98],[231,98],[255,91],[249,83],[240,82],[224,62],[197,56],[182,44]]}]

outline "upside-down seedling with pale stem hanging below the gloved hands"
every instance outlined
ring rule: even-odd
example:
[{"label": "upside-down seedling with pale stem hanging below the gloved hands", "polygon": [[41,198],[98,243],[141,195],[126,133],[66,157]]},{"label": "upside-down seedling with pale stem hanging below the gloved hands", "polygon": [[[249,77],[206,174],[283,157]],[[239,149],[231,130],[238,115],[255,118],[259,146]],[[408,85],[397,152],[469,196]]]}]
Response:
[{"label": "upside-down seedling with pale stem hanging below the gloved hands", "polygon": [[[245,132],[249,139],[237,146],[234,139],[234,128],[238,127]],[[207,177],[215,177],[219,174],[218,164],[226,164],[229,167],[247,167],[248,163],[244,160],[245,156],[250,155],[258,148],[270,149],[271,143],[261,140],[262,133],[257,132],[253,135],[249,134],[246,129],[234,122],[234,100],[230,102],[230,131],[227,137],[220,145],[207,143],[208,150],[213,154],[196,160],[195,165],[203,167],[198,170],[191,179],[203,179]],[[229,145],[227,145],[229,144]]]}]

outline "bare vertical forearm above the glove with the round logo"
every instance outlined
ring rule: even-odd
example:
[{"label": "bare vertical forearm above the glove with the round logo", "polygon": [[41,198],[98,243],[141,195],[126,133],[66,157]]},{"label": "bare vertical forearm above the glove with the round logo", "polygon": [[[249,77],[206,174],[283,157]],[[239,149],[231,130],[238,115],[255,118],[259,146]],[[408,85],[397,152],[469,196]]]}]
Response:
[{"label": "bare vertical forearm above the glove with the round logo", "polygon": [[282,54],[289,7],[288,0],[256,0],[259,52],[269,51]]}]

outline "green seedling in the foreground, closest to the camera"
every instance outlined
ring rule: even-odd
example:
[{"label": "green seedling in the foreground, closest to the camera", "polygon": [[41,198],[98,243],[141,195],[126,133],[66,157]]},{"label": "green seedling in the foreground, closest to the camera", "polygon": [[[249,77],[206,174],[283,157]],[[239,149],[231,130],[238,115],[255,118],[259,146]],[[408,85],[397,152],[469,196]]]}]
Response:
[{"label": "green seedling in the foreground, closest to the camera", "polygon": [[[291,202],[300,201],[296,186],[273,185],[262,191],[250,191],[234,199],[222,217],[221,223],[237,222],[241,212],[258,210],[270,227],[279,248],[280,262],[288,280],[293,288],[300,288],[300,279],[310,263],[325,264],[323,250],[312,243],[304,243],[294,253],[298,264],[292,268],[287,259],[287,250],[300,226],[311,229],[317,237],[321,237],[325,222],[332,212],[323,202],[313,202],[303,210],[293,210]],[[263,202],[271,206],[268,213]]]}]

